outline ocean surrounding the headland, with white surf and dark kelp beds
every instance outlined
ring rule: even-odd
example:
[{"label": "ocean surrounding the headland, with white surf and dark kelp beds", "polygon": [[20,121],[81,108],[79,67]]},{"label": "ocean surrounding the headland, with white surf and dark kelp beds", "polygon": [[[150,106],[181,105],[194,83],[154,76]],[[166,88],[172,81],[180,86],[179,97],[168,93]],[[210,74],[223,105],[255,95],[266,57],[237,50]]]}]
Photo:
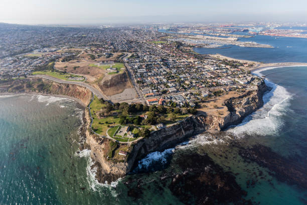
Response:
[{"label": "ocean surrounding the headland, with white surf and dark kelp beds", "polygon": [[[304,54],[295,58],[305,62]],[[271,87],[261,109],[218,135],[200,134],[148,154],[110,185],[95,179],[90,151],[79,152],[83,111],[75,101],[0,96],[0,204],[193,204],[211,198],[242,204],[241,197],[254,204],[306,204],[307,67],[255,74],[265,75]],[[216,181],[228,188],[210,185]]]}]

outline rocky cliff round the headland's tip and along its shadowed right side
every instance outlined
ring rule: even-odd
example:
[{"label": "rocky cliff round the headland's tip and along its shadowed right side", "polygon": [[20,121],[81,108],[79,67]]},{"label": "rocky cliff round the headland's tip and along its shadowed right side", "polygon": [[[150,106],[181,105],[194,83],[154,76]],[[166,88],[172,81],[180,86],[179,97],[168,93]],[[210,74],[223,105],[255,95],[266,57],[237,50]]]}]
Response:
[{"label": "rocky cliff round the headland's tip and along its shadowed right side", "polygon": [[87,138],[93,151],[92,157],[99,162],[98,180],[104,182],[124,176],[132,171],[138,161],[150,152],[174,147],[189,137],[205,131],[217,133],[229,125],[240,123],[244,117],[263,105],[262,95],[266,90],[267,87],[262,82],[257,86],[257,89],[246,91],[238,97],[226,100],[224,102],[228,108],[226,116],[199,114],[170,127],[151,132],[148,138],[143,138],[131,145],[129,155],[124,162],[106,160],[107,139]]}]

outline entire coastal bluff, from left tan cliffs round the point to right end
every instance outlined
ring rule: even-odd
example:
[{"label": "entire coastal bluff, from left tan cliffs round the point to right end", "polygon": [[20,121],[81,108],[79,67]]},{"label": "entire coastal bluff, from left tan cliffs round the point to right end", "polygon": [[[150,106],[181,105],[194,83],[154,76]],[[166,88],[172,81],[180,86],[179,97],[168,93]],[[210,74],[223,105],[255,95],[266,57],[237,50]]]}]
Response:
[{"label": "entire coastal bluff, from left tan cliffs round the point to right end", "polygon": [[[246,90],[239,96],[226,99],[224,106],[227,107],[228,111],[223,116],[208,115],[204,111],[199,111],[197,115],[151,132],[148,138],[142,138],[130,144],[119,143],[117,146],[124,147],[128,153],[124,160],[108,158],[109,145],[112,140],[97,136],[92,132],[90,128],[91,118],[87,107],[83,118],[84,126],[80,149],[91,149],[91,157],[95,162],[92,167],[97,168],[96,178],[99,182],[107,181],[110,183],[131,172],[137,166],[138,161],[150,152],[163,151],[188,140],[194,135],[203,132],[218,133],[230,125],[240,123],[243,118],[263,105],[262,96],[266,90],[268,90],[268,87],[262,80],[255,89]],[[79,99],[83,105],[88,105],[92,98],[92,92],[86,87],[57,83],[41,78],[0,82],[0,92],[67,95]]]}]

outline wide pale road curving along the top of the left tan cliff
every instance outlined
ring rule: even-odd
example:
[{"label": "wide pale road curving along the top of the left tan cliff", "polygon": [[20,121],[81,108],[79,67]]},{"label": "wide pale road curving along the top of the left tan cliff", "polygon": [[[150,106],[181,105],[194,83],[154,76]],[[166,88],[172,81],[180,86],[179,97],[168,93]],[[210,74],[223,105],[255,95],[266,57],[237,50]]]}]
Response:
[{"label": "wide pale road curving along the top of the left tan cliff", "polygon": [[91,86],[91,85],[89,85],[89,84],[87,84],[85,82],[62,80],[62,79],[59,79],[59,78],[56,78],[56,77],[51,77],[51,76],[48,76],[48,75],[34,75],[34,76],[31,76],[31,77],[41,77],[41,78],[52,80],[52,81],[55,81],[55,82],[58,82],[58,83],[80,85],[80,86],[86,87],[89,90],[91,90],[98,98],[103,98],[104,100],[109,100],[109,98],[106,95],[104,95],[98,89],[96,89],[95,87],[93,87],[93,86]]}]

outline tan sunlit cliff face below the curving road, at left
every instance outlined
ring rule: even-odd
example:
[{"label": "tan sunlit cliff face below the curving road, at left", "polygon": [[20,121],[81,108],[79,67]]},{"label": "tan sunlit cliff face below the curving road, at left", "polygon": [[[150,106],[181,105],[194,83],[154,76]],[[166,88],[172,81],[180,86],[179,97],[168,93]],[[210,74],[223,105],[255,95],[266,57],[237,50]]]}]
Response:
[{"label": "tan sunlit cliff face below the curving road, at left", "polygon": [[0,84],[0,92],[67,95],[77,98],[83,106],[89,104],[92,96],[91,91],[86,87],[57,83],[42,78],[25,78],[4,82]]}]

